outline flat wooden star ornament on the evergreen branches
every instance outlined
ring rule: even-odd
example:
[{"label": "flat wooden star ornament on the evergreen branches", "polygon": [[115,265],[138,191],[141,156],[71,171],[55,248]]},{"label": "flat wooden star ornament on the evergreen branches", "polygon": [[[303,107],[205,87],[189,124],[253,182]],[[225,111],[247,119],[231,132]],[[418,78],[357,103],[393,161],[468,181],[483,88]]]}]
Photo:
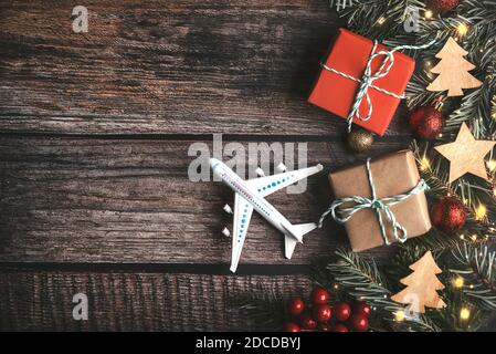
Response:
[{"label": "flat wooden star ornament on the evergreen branches", "polygon": [[476,140],[468,126],[463,123],[453,143],[434,148],[450,160],[448,183],[451,184],[465,174],[488,180],[484,157],[495,144],[496,142],[490,140]]}]

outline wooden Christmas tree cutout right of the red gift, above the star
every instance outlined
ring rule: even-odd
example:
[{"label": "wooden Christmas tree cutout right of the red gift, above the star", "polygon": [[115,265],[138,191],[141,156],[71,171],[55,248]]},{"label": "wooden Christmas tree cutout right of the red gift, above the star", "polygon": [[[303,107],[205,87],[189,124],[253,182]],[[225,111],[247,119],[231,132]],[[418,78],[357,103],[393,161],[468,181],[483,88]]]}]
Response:
[{"label": "wooden Christmas tree cutout right of the red gift, above the star", "polygon": [[463,56],[468,54],[462,46],[450,38],[443,49],[435,54],[441,61],[431,69],[439,76],[428,86],[428,91],[446,91],[447,96],[463,96],[462,88],[475,88],[483,83],[468,72],[475,65]]}]

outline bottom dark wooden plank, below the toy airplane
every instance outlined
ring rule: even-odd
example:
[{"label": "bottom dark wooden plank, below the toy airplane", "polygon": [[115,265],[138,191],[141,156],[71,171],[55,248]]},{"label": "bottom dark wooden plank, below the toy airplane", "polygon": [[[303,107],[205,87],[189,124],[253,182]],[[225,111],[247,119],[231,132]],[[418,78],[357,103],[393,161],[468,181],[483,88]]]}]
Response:
[{"label": "bottom dark wooden plank, below the toy airplane", "polygon": [[[240,295],[307,294],[304,275],[0,272],[0,331],[250,331]],[[88,320],[72,316],[85,293]],[[262,299],[262,298],[261,298]]]}]

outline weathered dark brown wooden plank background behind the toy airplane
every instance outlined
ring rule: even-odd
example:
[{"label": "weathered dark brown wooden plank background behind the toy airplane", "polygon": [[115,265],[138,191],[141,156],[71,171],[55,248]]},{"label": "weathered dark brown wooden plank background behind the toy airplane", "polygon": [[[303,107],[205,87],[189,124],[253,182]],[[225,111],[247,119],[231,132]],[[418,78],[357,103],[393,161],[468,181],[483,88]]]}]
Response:
[{"label": "weathered dark brown wooden plank background behind the toy airplane", "polygon": [[[87,33],[72,30],[78,4]],[[232,195],[189,181],[188,148],[222,133],[307,143],[325,173],[362,160],[305,101],[341,24],[326,0],[0,1],[0,330],[250,330],[231,299],[308,289],[304,266],[342,230],[328,222],[287,261],[254,216],[229,274]],[[403,121],[372,156],[408,145]],[[317,220],[326,174],[271,200]],[[72,319],[77,292],[88,321]]]}]

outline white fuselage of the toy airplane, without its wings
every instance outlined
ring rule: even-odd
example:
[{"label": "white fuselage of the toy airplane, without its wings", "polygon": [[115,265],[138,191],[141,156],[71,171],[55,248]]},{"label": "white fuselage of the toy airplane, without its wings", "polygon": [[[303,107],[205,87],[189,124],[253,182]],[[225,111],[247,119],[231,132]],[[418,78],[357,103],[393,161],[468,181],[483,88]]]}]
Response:
[{"label": "white fuselage of the toy airplane, without its wings", "polygon": [[219,176],[234,192],[243,197],[254,210],[256,210],[265,220],[285,235],[291,235],[298,241],[300,238],[292,232],[292,223],[281,212],[277,211],[265,198],[250,188],[250,186],[238,176],[231,168],[220,160],[212,163],[213,173]]}]

